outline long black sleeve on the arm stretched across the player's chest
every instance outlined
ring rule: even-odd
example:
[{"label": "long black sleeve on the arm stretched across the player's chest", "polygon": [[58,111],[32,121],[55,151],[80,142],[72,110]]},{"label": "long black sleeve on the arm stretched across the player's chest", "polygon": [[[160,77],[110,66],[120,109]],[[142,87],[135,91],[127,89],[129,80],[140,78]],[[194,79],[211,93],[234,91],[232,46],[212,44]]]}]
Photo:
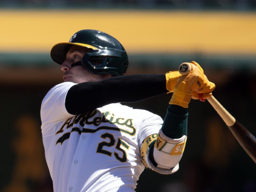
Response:
[{"label": "long black sleeve on the arm stretched across the player's chest", "polygon": [[68,90],[65,106],[78,115],[110,103],[137,102],[168,92],[165,82],[165,75],[141,74],[80,83]]}]

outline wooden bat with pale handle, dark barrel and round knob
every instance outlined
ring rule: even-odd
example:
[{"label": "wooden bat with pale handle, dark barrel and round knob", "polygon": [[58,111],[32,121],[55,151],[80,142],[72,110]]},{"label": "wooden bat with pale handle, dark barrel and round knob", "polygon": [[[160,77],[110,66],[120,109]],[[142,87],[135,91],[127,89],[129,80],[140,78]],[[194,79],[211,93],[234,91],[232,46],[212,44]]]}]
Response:
[{"label": "wooden bat with pale handle, dark barrel and round knob", "polygon": [[[181,75],[185,76],[191,71],[189,63],[182,63],[179,67]],[[199,94],[199,97],[201,95]],[[202,97],[202,96],[201,96]],[[202,98],[200,98],[202,101]],[[244,148],[246,153],[256,163],[256,138],[242,124],[240,124],[228,111],[219,103],[213,95],[207,99],[212,107],[217,111],[222,120],[226,123],[238,143]]]}]

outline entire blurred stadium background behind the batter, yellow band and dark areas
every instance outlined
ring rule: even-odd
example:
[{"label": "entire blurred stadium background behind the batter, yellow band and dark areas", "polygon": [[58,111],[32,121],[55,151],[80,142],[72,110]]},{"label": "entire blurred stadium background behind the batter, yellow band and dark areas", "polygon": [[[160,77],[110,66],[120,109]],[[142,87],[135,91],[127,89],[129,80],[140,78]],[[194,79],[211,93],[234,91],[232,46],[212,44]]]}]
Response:
[{"label": "entire blurred stadium background behind the batter, yellow band and dark areas", "polygon": [[[0,191],[52,191],[40,105],[62,72],[49,52],[80,29],[115,36],[129,55],[127,74],[163,74],[197,61],[216,84],[214,96],[256,135],[255,8],[253,0],[1,0]],[[127,105],[164,118],[170,98]],[[252,192],[255,164],[210,104],[192,100],[180,170],[145,170],[136,191]]]}]

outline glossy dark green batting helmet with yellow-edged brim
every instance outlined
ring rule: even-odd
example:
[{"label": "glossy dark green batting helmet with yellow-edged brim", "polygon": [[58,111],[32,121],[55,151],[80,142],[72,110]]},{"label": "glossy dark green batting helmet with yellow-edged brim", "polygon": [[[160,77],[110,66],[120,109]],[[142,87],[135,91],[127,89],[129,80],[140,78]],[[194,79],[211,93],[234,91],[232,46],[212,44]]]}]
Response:
[{"label": "glossy dark green batting helmet with yellow-edged brim", "polygon": [[[70,47],[87,47],[90,52],[84,54],[81,64],[93,74],[113,74],[122,76],[126,73],[129,61],[123,45],[116,38],[98,30],[84,29],[76,32],[68,43],[58,43],[52,47],[52,60],[62,64]],[[101,59],[93,65],[92,60]]]}]

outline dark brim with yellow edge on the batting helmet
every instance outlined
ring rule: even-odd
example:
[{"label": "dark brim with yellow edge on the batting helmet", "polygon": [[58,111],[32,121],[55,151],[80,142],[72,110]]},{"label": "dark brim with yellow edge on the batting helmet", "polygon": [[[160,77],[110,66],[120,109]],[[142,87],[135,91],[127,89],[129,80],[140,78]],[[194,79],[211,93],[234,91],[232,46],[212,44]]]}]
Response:
[{"label": "dark brim with yellow edge on the batting helmet", "polygon": [[93,47],[92,45],[89,44],[82,44],[82,43],[58,43],[53,45],[52,50],[51,50],[51,58],[53,61],[55,61],[58,64],[62,64],[66,60],[66,54],[68,50],[74,46],[81,46],[81,47],[87,47],[92,50],[98,50],[98,48]]}]

